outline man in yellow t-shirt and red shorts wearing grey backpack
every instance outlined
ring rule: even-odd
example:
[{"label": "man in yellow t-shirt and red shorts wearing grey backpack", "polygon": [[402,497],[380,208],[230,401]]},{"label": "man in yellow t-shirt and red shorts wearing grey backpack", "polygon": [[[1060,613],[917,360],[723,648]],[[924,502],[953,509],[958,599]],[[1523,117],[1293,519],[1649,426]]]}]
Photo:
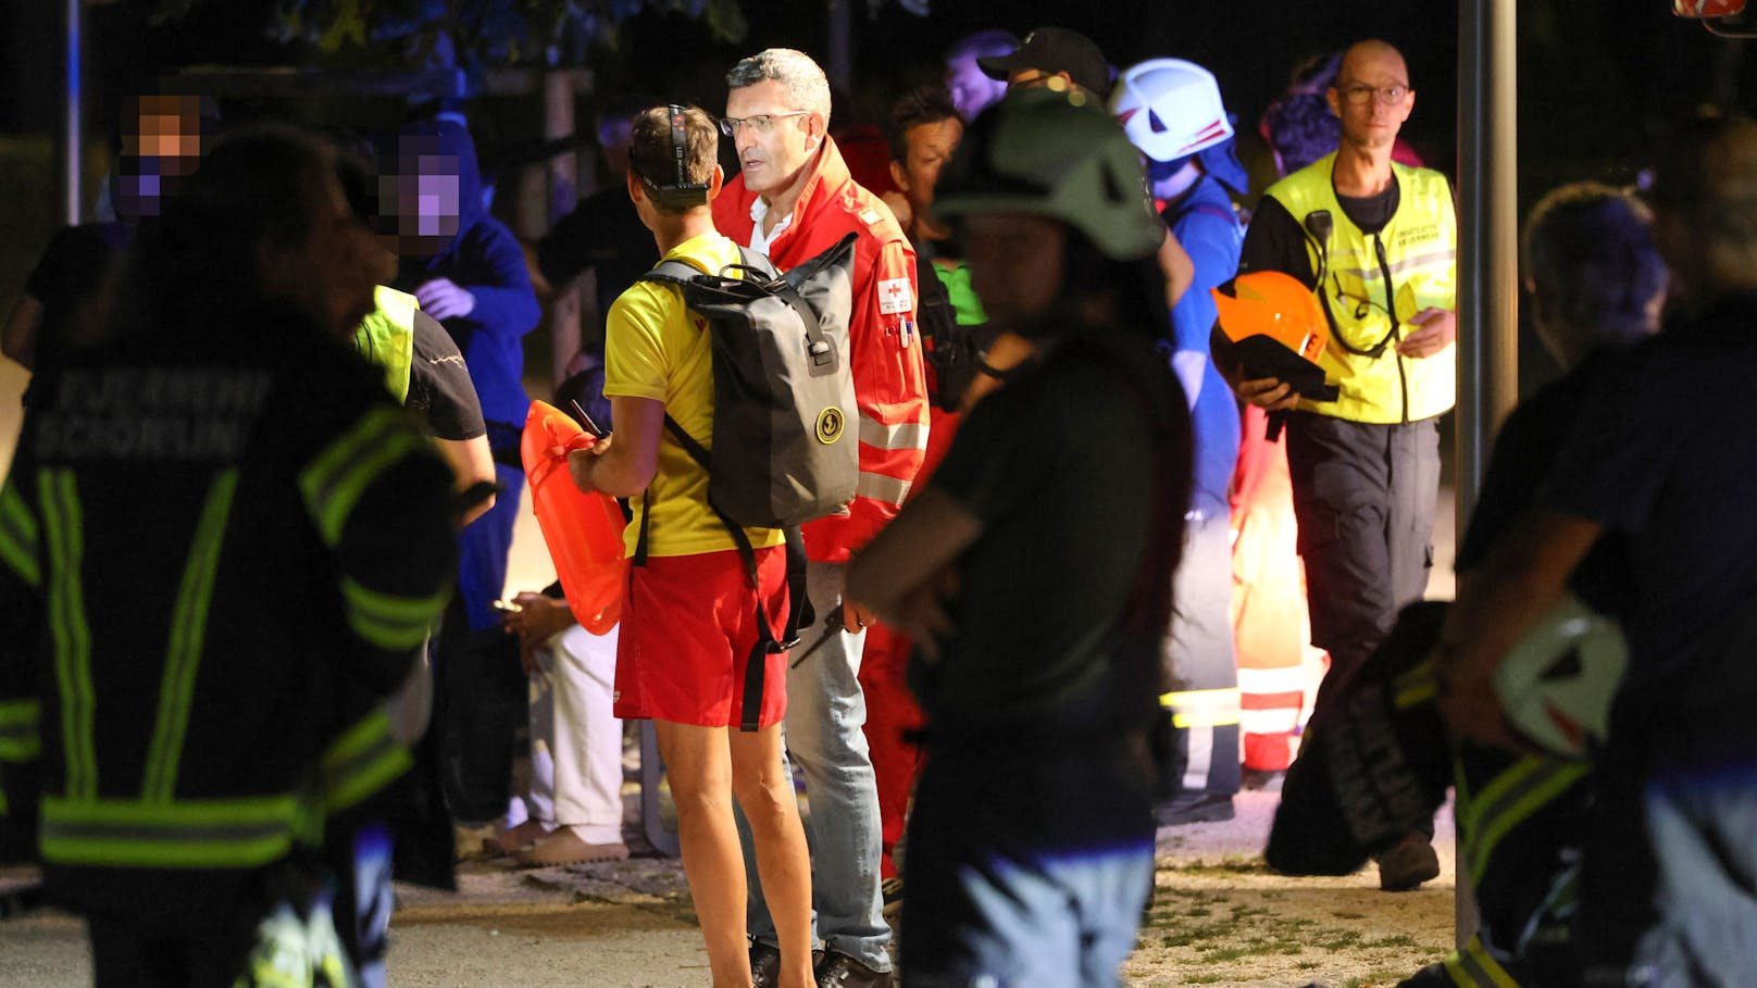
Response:
[{"label": "man in yellow t-shirt and red shorts wearing grey backpack", "polygon": [[[713,227],[708,202],[724,176],[717,125],[696,107],[654,107],[634,118],[629,199],[662,260],[705,274],[738,264],[738,244]],[[782,770],[787,654],[766,656],[759,730],[740,723],[745,665],[761,635],[787,614],[785,548],[778,529],[745,529],[757,587],[745,577],[731,533],[708,506],[708,473],[666,431],[666,417],[703,447],[713,441],[713,359],[706,320],[676,285],[638,281],[604,327],[604,396],[617,432],[575,452],[583,490],[629,498],[625,538],[645,564],[631,570],[617,647],[617,717],[650,717],[676,800],[689,877],[713,981],[750,977],[745,946],[745,868],[727,788],[756,835],[757,874],[775,918],[782,984],[812,983],[812,893],[805,830],[792,779]],[[650,522],[648,515],[650,513]]]}]

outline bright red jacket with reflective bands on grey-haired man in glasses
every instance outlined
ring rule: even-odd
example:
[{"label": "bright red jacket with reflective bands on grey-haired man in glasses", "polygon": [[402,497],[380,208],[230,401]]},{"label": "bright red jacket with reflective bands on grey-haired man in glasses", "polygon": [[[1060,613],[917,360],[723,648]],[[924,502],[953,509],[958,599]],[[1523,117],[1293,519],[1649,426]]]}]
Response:
[{"label": "bright red jacket with reflective bands on grey-haired man in glasses", "polygon": [[[921,471],[928,448],[928,383],[915,329],[915,248],[891,209],[861,188],[836,142],[824,139],[792,222],[770,244],[782,271],[810,260],[849,232],[854,246],[854,309],[849,352],[861,420],[861,478],[845,515],[805,526],[806,554],[840,563],[891,520]],[[713,225],[748,246],[756,193],[734,176],[713,200]]]}]

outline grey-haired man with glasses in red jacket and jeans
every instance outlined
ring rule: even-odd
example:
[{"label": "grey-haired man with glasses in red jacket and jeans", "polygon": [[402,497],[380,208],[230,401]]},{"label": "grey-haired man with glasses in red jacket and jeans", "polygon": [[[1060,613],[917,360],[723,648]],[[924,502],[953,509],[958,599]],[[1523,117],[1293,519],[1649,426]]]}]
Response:
[{"label": "grey-haired man with glasses in red jacket and jeans", "polygon": [[[859,406],[861,476],[847,513],[805,526],[806,591],[817,614],[842,599],[849,552],[889,522],[921,469],[928,390],[915,332],[915,251],[891,209],[861,188],[829,137],[829,83],[806,54],[771,47],[726,76],[720,127],[740,174],[713,202],[726,236],[789,269],[859,236],[849,350]],[[871,614],[849,601],[840,628],[808,631],[787,673],[787,751],[812,798],[812,904],[824,941],[819,984],[891,983],[891,928],[878,893],[878,791],[856,673]],[[748,847],[748,842],[747,842]],[[748,853],[747,853],[748,858]],[[747,868],[754,879],[756,868]],[[773,923],[752,881],[752,976],[773,983]]]}]

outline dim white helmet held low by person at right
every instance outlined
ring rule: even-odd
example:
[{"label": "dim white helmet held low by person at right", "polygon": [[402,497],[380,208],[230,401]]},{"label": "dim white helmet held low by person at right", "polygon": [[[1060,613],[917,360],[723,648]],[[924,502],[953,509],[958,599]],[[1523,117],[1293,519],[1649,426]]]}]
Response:
[{"label": "dim white helmet held low by person at right", "polygon": [[1508,649],[1495,693],[1518,733],[1562,758],[1583,758],[1609,730],[1627,665],[1622,628],[1565,594]]}]

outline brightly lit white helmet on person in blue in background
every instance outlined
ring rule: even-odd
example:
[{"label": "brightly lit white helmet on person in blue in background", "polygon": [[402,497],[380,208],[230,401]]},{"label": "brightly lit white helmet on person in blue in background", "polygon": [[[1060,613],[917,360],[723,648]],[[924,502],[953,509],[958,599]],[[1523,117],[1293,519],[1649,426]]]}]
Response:
[{"label": "brightly lit white helmet on person in blue in background", "polygon": [[1182,58],[1149,58],[1110,90],[1110,113],[1154,162],[1175,162],[1232,137],[1214,74]]}]

